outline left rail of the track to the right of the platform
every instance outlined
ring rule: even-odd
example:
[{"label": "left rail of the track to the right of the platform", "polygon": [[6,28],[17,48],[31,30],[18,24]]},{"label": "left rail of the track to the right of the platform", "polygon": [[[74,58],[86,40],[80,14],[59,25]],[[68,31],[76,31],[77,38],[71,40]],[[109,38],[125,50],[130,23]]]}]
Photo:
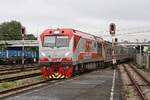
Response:
[{"label": "left rail of the track to the right of the platform", "polygon": [[127,72],[127,75],[129,77],[130,81],[134,85],[134,87],[137,90],[137,92],[138,92],[139,96],[141,97],[141,99],[142,100],[147,100],[146,97],[145,97],[145,95],[143,94],[140,86],[137,84],[137,82],[135,81],[135,79],[132,77],[131,73],[127,70],[126,66],[123,65],[123,67],[124,67],[125,71]]}]

